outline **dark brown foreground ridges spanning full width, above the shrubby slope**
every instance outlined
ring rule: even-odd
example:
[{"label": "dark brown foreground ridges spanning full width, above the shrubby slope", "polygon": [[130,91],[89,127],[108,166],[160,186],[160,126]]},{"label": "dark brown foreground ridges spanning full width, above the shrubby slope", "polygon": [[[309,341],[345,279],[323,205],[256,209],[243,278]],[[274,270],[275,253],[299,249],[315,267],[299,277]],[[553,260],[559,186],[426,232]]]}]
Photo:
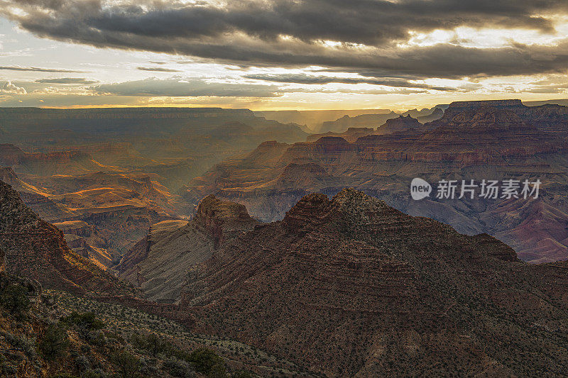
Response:
[{"label": "dark brown foreground ridges spanning full width, above the shrubby slope", "polygon": [[8,184],[0,197],[9,274],[238,340],[288,369],[394,377],[567,368],[566,262],[527,264],[486,233],[458,233],[362,191],[303,196],[273,223],[207,196],[191,221],[154,225],[124,257],[119,271],[134,287],[67,248]]}]

